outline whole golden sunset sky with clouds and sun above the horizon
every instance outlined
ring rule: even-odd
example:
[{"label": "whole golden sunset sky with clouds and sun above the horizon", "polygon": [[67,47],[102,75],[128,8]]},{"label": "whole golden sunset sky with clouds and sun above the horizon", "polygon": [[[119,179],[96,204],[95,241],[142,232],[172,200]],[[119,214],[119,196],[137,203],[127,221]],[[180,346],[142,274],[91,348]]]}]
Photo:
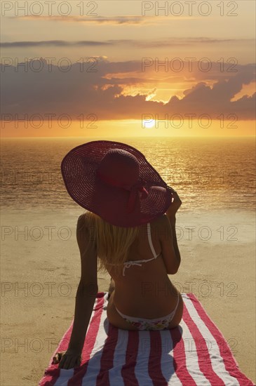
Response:
[{"label": "whole golden sunset sky with clouds and sun above the horizon", "polygon": [[1,1],[1,24],[3,137],[255,135],[255,1]]}]

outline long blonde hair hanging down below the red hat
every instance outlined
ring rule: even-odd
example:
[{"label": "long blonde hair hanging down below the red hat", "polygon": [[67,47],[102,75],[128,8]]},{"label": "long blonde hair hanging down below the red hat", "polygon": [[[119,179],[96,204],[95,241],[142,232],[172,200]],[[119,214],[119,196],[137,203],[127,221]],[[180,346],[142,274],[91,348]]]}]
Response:
[{"label": "long blonde hair hanging down below the red hat", "polygon": [[90,211],[86,212],[86,218],[89,222],[90,240],[95,241],[97,246],[98,270],[107,272],[107,268],[114,267],[116,273],[120,274],[140,226],[117,227]]}]

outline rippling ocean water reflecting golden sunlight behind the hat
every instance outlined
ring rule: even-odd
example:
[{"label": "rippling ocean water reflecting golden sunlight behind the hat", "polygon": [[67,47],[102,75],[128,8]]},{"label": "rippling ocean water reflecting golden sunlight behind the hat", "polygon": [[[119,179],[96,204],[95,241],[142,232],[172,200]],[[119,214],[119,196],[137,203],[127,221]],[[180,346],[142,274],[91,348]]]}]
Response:
[{"label": "rippling ocean water reflecting golden sunlight behind the hat", "polygon": [[[112,138],[1,140],[1,206],[18,210],[79,208],[60,163],[70,149]],[[182,200],[183,212],[255,211],[255,138],[116,138],[142,152]]]}]

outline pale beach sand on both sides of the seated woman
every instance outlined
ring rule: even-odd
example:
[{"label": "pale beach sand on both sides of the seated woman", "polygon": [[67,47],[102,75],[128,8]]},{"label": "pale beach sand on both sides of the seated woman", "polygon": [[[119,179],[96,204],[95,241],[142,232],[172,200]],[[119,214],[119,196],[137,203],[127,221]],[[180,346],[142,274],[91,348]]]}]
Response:
[{"label": "pale beach sand on both sides of the seated woman", "polygon": [[[79,207],[1,213],[3,386],[38,385],[72,322],[81,213]],[[180,211],[176,228],[182,262],[170,280],[181,292],[196,295],[241,371],[255,382],[255,215]],[[109,276],[99,274],[98,286],[107,291]]]}]

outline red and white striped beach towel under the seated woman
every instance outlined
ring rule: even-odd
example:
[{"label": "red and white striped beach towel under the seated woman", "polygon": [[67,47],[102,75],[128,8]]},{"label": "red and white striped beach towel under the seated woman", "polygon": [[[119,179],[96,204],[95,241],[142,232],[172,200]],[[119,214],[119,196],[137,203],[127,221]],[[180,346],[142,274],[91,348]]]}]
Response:
[{"label": "red and white striped beach towel under the seated woman", "polygon": [[[227,341],[192,293],[182,293],[180,326],[124,331],[109,324],[107,292],[97,293],[83,360],[65,370],[51,364],[39,386],[253,386],[238,368]],[[57,350],[67,350],[72,325]]]}]

